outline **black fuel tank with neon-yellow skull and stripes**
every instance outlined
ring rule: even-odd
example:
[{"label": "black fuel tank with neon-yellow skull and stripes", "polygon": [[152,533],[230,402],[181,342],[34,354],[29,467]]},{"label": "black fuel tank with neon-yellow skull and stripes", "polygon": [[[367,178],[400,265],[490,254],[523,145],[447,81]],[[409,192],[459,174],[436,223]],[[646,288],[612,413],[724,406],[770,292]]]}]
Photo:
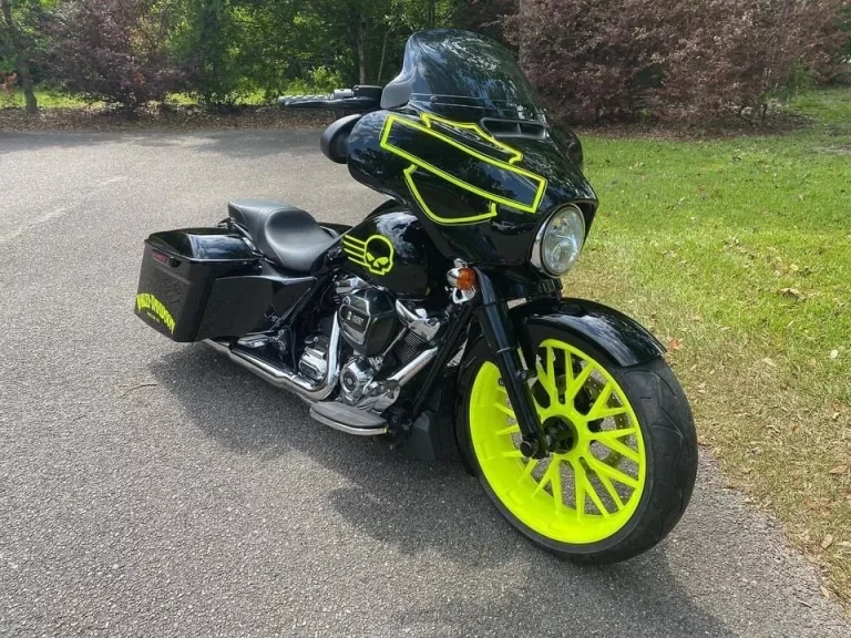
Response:
[{"label": "black fuel tank with neon-yellow skull and stripes", "polygon": [[342,251],[361,279],[416,299],[437,290],[451,267],[417,216],[399,207],[379,208],[355,226],[342,238]]}]

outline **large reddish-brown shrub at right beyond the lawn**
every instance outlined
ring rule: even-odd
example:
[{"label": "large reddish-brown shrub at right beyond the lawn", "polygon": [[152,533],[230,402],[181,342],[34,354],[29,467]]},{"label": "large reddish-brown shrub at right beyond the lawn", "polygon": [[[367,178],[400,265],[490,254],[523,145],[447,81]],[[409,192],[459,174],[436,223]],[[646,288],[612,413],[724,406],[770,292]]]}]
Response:
[{"label": "large reddish-brown shrub at right beyond the lawn", "polygon": [[506,22],[554,114],[699,120],[765,114],[837,62],[841,0],[524,0]]}]

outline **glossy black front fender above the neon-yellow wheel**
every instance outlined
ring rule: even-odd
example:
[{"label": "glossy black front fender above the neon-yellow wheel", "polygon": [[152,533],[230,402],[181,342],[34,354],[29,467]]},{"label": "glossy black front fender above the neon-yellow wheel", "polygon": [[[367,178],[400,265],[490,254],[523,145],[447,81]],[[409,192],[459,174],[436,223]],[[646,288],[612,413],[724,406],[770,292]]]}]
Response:
[{"label": "glossy black front fender above the neon-yellow wheel", "polygon": [[[602,350],[618,366],[656,359],[665,347],[640,323],[613,308],[584,299],[536,299],[511,309],[515,335],[522,341],[535,327],[572,332]],[[532,354],[524,344],[526,359]]]}]

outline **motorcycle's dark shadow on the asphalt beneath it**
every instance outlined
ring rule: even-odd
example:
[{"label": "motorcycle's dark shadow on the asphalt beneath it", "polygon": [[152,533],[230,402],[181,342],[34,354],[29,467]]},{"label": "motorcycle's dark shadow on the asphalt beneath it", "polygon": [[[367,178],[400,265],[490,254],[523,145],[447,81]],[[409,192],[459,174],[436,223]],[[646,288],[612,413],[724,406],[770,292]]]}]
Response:
[{"label": "motorcycle's dark shadow on the asphalt beneath it", "polygon": [[[473,590],[457,583],[448,586],[445,593],[423,598],[431,605],[400,611],[396,620],[401,626],[449,625],[458,635],[504,629],[512,635],[611,636],[615,627],[630,635],[630,627],[638,626],[643,635],[732,635],[683,589],[669,568],[666,545],[606,567],[561,562],[511,529],[460,462],[413,461],[385,442],[325,428],[309,419],[300,400],[202,346],[171,353],[150,369],[217,443],[262,459],[298,451],[345,477],[348,485],[325,497],[362,534],[424,562],[437,554],[462,573],[512,574],[494,584],[495,595],[475,591],[476,585]],[[434,600],[445,604],[434,606]],[[510,629],[515,625],[516,630]]]}]

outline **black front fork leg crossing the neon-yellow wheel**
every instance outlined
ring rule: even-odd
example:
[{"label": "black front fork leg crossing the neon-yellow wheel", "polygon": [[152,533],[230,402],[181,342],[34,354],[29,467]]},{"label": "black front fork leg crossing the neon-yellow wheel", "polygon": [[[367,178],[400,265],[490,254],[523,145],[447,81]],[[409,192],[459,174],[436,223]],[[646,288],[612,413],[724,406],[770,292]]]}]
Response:
[{"label": "black front fork leg crossing the neon-yellow wheel", "polygon": [[542,459],[547,453],[548,442],[535,410],[532,390],[526,383],[529,375],[517,353],[517,339],[509,318],[507,303],[499,297],[488,275],[478,268],[475,274],[476,287],[481,295],[479,315],[482,332],[500,369],[502,382],[523,434],[521,451],[526,456]]}]

